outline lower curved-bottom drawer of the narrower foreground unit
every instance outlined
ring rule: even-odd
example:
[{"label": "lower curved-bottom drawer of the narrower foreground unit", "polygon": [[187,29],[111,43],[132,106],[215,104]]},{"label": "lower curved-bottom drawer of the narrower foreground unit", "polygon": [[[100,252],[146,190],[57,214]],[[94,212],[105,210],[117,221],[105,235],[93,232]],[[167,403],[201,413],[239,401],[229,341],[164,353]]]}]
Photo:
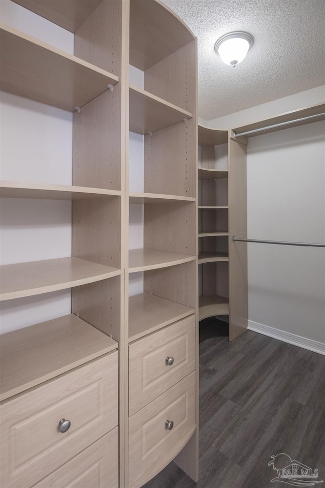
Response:
[{"label": "lower curved-bottom drawer of the narrower foreground unit", "polygon": [[[174,422],[171,430],[166,421]],[[137,488],[182,449],[196,425],[196,372],[128,419],[129,486]]]}]

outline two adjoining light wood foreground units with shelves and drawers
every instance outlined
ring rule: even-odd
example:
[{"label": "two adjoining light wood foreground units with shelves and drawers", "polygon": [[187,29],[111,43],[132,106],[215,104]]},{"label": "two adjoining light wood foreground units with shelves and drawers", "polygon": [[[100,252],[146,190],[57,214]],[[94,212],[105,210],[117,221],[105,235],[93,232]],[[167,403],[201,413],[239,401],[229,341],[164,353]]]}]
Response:
[{"label": "two adjoining light wood foreground units with shelves and drawers", "polygon": [[[71,56],[1,31],[1,89],[74,112],[73,186],[5,181],[1,196],[71,199],[73,245],[72,257],[3,266],[2,298],[71,287],[72,314],[4,335],[4,484],[136,488],[173,459],[197,480],[196,38],[157,0],[16,3],[75,33]],[[144,88],[129,85],[129,63]],[[144,135],[137,193],[128,130]],[[144,247],[128,253],[129,203],[144,206]],[[128,300],[134,272],[143,293]],[[66,397],[80,401],[64,414]],[[47,435],[42,409],[75,415],[71,429],[61,433],[62,419]],[[22,420],[29,431],[9,464]]]}]

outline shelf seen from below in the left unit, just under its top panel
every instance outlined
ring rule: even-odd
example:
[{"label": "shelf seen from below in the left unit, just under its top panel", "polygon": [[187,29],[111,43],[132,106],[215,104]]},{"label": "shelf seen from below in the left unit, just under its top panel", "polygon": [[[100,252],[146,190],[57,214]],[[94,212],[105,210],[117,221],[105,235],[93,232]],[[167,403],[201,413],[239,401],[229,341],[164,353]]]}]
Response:
[{"label": "shelf seen from below in the left unit, just under its top panel", "polygon": [[118,77],[8,26],[0,28],[0,89],[73,112]]}]

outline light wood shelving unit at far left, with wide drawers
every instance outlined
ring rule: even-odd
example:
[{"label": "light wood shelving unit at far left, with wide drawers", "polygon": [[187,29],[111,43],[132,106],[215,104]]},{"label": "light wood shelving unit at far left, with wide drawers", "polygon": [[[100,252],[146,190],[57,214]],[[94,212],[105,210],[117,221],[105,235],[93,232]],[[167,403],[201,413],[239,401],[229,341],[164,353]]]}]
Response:
[{"label": "light wood shelving unit at far left, with wide drawers", "polygon": [[123,4],[16,3],[74,33],[74,55],[11,27],[1,28],[0,39],[0,88],[73,112],[73,185],[17,178],[2,182],[0,195],[40,199],[40,205],[72,200],[72,253],[25,263],[18,257],[2,266],[1,299],[71,288],[72,313],[1,338],[2,485],[115,488],[124,292]]}]

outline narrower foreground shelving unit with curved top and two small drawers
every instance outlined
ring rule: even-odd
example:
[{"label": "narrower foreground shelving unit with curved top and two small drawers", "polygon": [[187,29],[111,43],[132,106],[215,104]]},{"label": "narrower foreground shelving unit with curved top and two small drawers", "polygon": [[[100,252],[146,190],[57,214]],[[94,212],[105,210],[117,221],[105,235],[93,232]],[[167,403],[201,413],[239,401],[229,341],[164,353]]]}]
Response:
[{"label": "narrower foreground shelving unit with curved top and two small drawers", "polygon": [[143,284],[125,308],[125,486],[137,488],[173,459],[198,479],[197,41],[160,2],[130,7],[129,63],[144,77],[129,86],[144,178],[126,184],[143,215],[143,247],[128,255]]}]

